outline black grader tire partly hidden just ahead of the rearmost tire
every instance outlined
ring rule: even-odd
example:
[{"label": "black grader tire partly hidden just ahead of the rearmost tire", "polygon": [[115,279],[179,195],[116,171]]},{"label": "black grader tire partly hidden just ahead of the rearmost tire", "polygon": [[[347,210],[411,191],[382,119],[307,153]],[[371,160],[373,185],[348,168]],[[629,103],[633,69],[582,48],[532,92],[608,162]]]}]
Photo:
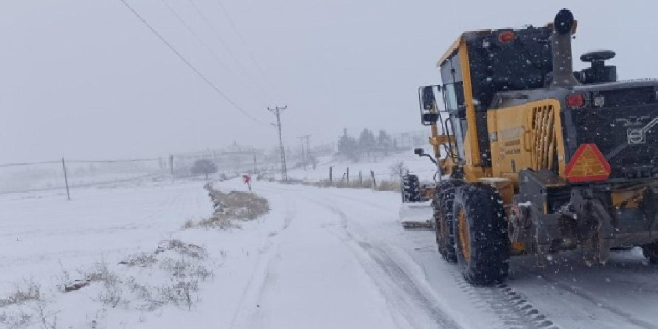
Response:
[{"label": "black grader tire partly hidden just ahead of the rearmost tire", "polygon": [[455,234],[453,226],[453,204],[455,191],[459,182],[447,181],[437,186],[434,195],[434,220],[436,221],[436,244],[443,259],[449,263],[457,263],[455,253]]}]

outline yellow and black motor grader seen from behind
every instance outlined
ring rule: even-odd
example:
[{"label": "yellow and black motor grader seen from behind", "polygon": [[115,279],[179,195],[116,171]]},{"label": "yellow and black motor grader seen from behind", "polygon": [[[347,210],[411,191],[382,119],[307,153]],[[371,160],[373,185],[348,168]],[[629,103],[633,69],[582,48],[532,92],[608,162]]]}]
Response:
[{"label": "yellow and black motor grader seen from behind", "polygon": [[612,51],[573,72],[575,33],[567,9],[542,27],[465,32],[437,63],[442,84],[418,89],[438,249],[468,282],[505,280],[513,255],[605,263],[641,246],[658,262],[658,81],[618,82]]}]

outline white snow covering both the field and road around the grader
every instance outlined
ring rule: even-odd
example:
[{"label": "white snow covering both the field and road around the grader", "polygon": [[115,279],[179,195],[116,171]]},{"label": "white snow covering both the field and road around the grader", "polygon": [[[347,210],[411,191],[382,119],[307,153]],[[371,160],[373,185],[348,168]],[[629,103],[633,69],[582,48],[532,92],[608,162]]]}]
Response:
[{"label": "white snow covering both the field and road around the grader", "polygon": [[[637,250],[592,268],[578,255],[548,268],[513,259],[507,284],[473,287],[438,255],[432,232],[401,228],[397,193],[254,182],[270,213],[240,229],[182,230],[212,212],[203,184],[78,188],[72,201],[61,191],[0,195],[0,301],[40,286],[40,301],[0,307],[0,320],[32,315],[17,328],[84,329],[658,327],[658,266]],[[245,190],[238,180],[215,186]],[[100,282],[58,288],[99,264],[124,281],[166,284],[161,265],[119,263],[172,239],[207,249],[198,264],[211,276],[190,303],[145,309],[130,291],[108,303]]]}]

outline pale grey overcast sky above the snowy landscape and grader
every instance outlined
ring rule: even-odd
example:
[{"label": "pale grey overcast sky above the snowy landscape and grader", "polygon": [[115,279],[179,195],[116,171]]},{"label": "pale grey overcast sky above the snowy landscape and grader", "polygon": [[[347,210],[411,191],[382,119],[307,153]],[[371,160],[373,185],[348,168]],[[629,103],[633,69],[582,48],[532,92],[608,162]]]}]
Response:
[{"label": "pale grey overcast sky above the snowy landscape and grader", "polygon": [[334,141],[343,127],[419,130],[417,87],[439,82],[436,60],[461,32],[543,25],[563,7],[578,20],[574,54],[612,49],[620,78],[658,77],[656,1],[191,0],[215,32],[190,0],[126,1],[265,124],[222,99],[120,0],[0,0],[0,163],[234,140],[271,147],[275,105],[288,105],[282,126],[294,145],[302,134]]}]

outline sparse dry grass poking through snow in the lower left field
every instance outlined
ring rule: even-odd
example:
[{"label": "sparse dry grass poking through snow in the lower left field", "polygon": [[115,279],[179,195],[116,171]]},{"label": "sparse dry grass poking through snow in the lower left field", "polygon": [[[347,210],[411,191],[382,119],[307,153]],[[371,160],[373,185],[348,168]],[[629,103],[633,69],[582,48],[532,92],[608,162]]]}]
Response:
[{"label": "sparse dry grass poking through snow in the lower left field", "polygon": [[[0,328],[57,329],[57,313],[48,304],[57,293],[88,291],[103,309],[150,312],[165,305],[191,310],[201,283],[213,277],[205,247],[180,240],[163,240],[155,251],[130,255],[117,265],[104,260],[70,274],[63,268],[55,295],[44,297],[34,282],[18,285],[0,296]],[[72,280],[71,276],[80,277]],[[80,292],[78,291],[80,290]],[[91,328],[95,328],[93,322]]]}]

